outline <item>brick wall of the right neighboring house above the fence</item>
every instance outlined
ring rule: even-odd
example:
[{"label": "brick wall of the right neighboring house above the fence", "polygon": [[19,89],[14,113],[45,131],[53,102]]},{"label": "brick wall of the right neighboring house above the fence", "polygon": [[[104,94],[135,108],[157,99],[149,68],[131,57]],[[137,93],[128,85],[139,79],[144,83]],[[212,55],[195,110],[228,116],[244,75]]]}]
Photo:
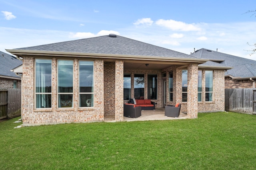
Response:
[{"label": "brick wall of the right neighboring house above the fence", "polygon": [[[256,79],[252,79],[256,81]],[[253,82],[247,80],[234,80],[231,77],[225,77],[225,88],[253,88]]]}]

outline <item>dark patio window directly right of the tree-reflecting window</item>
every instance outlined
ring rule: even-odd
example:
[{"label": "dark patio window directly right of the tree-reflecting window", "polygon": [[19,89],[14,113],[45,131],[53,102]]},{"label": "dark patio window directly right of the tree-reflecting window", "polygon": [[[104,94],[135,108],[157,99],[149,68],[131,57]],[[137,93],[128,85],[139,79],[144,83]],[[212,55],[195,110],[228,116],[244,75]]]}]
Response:
[{"label": "dark patio window directly right of the tree-reflecting window", "polygon": [[157,74],[148,75],[148,99],[157,99]]}]

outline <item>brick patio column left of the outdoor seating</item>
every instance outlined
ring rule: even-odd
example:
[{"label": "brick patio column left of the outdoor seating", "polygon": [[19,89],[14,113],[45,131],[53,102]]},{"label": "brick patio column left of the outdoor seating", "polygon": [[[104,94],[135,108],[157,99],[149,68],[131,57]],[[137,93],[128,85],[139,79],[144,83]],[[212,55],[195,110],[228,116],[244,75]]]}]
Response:
[{"label": "brick patio column left of the outdoor seating", "polygon": [[124,61],[116,61],[115,72],[115,119],[124,121]]}]

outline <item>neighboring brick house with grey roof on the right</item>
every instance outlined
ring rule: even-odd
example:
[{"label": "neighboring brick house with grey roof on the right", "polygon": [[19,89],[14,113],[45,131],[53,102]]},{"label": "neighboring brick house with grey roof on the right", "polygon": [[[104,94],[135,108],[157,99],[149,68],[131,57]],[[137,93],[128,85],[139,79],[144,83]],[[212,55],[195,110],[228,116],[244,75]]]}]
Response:
[{"label": "neighboring brick house with grey roof on the right", "polygon": [[191,56],[231,66],[225,71],[225,88],[255,88],[256,61],[208,49],[194,51]]}]

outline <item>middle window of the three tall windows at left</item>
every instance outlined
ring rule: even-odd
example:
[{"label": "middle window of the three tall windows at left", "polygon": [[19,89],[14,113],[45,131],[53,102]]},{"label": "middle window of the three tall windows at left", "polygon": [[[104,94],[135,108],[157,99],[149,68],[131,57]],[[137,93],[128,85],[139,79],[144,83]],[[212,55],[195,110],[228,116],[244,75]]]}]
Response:
[{"label": "middle window of the three tall windows at left", "polygon": [[58,107],[73,107],[73,61],[58,60]]}]

